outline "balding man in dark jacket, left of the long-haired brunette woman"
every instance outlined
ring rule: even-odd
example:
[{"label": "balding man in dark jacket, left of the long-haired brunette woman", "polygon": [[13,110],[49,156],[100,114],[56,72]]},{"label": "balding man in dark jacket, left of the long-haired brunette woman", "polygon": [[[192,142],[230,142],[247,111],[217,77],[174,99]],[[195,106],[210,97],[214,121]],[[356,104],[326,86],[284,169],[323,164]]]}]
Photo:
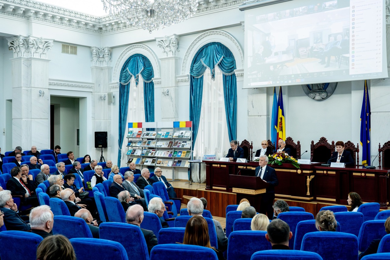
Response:
[{"label": "balding man in dark jacket, left of the long-haired brunette woman", "polygon": [[[126,222],[129,224],[140,226],[143,219],[144,219],[144,209],[142,208],[141,205],[131,206],[126,211]],[[144,234],[147,249],[150,255],[150,251],[152,250],[152,248],[157,245],[157,237],[156,235],[154,235],[153,231],[151,230],[146,230],[141,228],[141,231]]]}]

